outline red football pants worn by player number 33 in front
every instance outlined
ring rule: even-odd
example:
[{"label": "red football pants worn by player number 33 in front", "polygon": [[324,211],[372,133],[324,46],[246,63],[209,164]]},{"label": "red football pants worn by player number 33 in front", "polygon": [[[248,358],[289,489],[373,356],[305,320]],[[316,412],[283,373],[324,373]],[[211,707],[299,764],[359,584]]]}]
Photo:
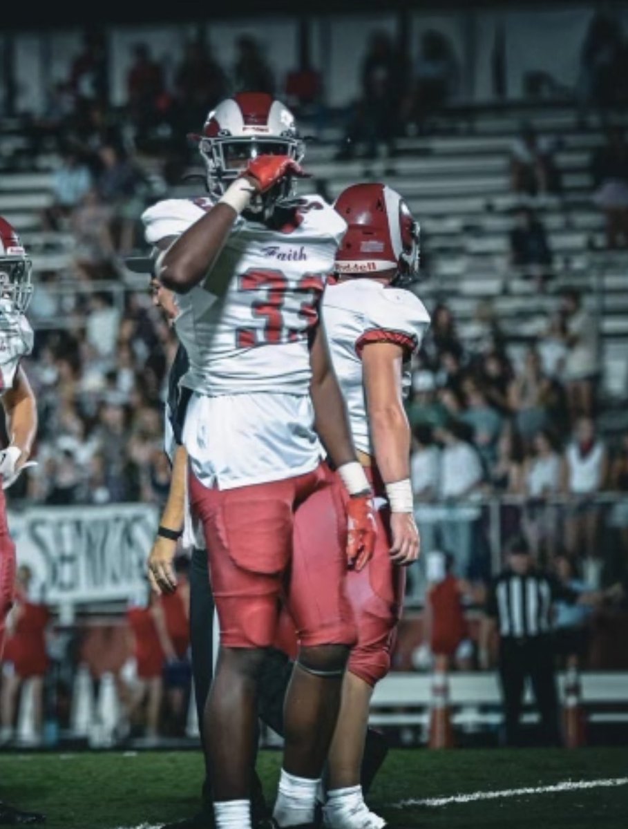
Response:
[{"label": "red football pants worn by player number 33 in front", "polygon": [[304,646],[352,645],[345,594],[346,516],[325,464],[248,487],[208,489],[190,474],[225,647],[269,647],[282,600]]}]

